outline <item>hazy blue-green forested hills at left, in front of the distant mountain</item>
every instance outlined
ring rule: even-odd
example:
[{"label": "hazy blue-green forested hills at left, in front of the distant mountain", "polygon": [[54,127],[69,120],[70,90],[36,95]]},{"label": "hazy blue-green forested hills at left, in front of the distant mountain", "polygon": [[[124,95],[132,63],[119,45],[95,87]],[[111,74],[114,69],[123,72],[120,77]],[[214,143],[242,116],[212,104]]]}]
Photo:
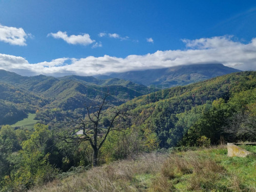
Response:
[{"label": "hazy blue-green forested hills at left, in front of the distant mountain", "polygon": [[[92,102],[107,89],[111,91],[114,105],[158,90],[118,78],[100,80],[76,75],[24,77],[4,70],[0,70],[0,83],[0,125],[13,124],[36,111],[36,119],[44,123],[56,117],[61,119],[67,113],[84,115],[84,103]],[[49,110],[55,113],[53,119],[46,116]]]}]

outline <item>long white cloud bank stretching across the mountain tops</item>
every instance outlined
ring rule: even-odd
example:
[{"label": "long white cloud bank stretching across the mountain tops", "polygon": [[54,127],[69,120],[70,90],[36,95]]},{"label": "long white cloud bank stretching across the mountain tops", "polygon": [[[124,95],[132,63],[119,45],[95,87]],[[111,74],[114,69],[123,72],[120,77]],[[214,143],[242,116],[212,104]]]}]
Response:
[{"label": "long white cloud bank stretching across the mountain tops", "polygon": [[248,43],[234,41],[230,36],[183,39],[183,42],[187,47],[185,50],[157,51],[146,55],[129,55],[125,58],[104,55],[29,63],[23,57],[0,54],[0,69],[21,75],[87,76],[197,63],[223,63],[240,70],[256,70],[256,38]]}]

